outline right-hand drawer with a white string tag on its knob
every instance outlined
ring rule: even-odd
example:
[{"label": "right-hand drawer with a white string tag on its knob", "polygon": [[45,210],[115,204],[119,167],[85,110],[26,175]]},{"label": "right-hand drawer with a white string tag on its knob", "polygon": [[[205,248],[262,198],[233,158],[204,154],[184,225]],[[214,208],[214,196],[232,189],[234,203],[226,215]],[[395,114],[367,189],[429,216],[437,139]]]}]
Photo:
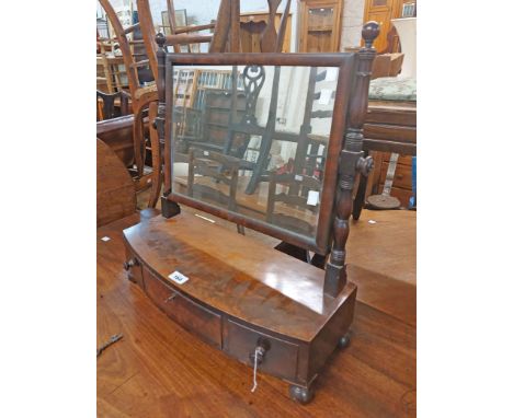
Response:
[{"label": "right-hand drawer with a white string tag on its knob", "polygon": [[265,351],[259,370],[294,381],[297,371],[297,356],[299,346],[283,339],[271,337],[225,318],[223,329],[224,350],[239,361],[252,364],[250,359],[259,342],[264,341]]}]

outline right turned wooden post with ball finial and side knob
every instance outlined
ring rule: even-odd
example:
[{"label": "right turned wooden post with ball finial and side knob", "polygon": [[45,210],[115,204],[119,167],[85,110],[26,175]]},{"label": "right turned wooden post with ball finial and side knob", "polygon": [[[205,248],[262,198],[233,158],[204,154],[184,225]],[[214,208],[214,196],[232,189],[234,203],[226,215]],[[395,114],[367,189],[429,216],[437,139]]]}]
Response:
[{"label": "right turned wooden post with ball finial and side knob", "polygon": [[326,265],[324,293],[337,297],[347,282],[345,271],[345,244],[349,236],[349,219],[353,206],[353,187],[356,173],[368,174],[373,169],[371,156],[364,158],[363,125],[368,104],[368,85],[376,49],[373,42],[379,35],[379,25],[367,22],[362,30],[365,45],[357,54],[355,83],[351,95],[347,128],[343,149],[339,156],[335,217],[333,221],[333,244],[330,259]]}]

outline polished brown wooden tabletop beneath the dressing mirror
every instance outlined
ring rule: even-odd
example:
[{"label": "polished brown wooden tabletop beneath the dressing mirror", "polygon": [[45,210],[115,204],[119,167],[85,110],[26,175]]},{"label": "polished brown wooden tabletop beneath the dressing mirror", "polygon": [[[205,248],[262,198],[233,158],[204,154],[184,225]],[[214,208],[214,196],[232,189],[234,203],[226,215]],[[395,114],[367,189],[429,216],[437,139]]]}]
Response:
[{"label": "polished brown wooden tabletop beneath the dressing mirror", "polygon": [[333,353],[307,406],[289,400],[288,385],[272,376],[259,374],[251,393],[250,368],[168,320],[125,278],[121,231],[138,221],[98,231],[98,345],[124,335],[96,362],[99,417],[415,416],[415,212],[364,211],[352,223],[352,342]]}]

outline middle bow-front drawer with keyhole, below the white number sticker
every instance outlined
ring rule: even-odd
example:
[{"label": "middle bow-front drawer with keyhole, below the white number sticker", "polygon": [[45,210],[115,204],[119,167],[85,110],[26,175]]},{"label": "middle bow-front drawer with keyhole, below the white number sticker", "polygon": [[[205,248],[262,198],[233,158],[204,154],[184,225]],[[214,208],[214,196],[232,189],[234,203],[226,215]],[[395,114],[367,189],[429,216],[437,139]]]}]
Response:
[{"label": "middle bow-front drawer with keyhole, below the white number sticker", "polygon": [[152,272],[142,269],[146,293],[166,314],[206,342],[221,347],[221,317],[219,314],[175,292]]}]

